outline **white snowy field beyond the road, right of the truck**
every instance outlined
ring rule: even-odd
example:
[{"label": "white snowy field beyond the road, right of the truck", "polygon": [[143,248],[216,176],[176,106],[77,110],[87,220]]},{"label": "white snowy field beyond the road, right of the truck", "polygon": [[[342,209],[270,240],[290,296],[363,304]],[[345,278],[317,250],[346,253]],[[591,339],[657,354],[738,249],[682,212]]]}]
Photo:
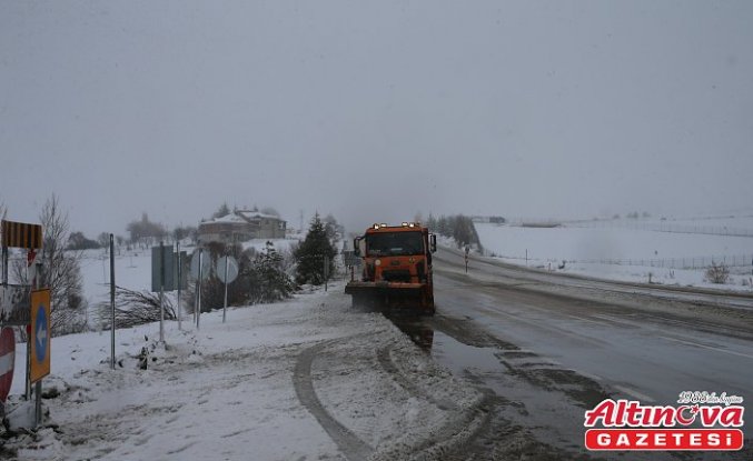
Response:
[{"label": "white snowy field beyond the road, right of the truck", "polygon": [[[515,264],[612,280],[753,291],[753,237],[723,234],[725,230],[753,234],[750,217],[555,228],[476,223],[476,229],[487,255]],[[716,231],[722,234],[712,233]],[[705,280],[712,262],[730,268],[726,284]]]}]

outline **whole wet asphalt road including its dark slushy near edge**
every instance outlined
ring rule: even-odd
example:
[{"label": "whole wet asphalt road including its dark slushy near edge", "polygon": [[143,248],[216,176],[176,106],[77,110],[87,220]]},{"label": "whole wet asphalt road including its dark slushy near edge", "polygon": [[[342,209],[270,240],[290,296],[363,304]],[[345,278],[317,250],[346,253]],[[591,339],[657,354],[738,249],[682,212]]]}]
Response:
[{"label": "whole wet asphalt road including its dark slushy near edge", "polygon": [[[676,404],[682,391],[726,392],[744,404],[753,399],[751,297],[562,278],[475,259],[466,274],[460,253],[440,250],[435,298],[435,318],[396,324],[455,373],[496,394],[499,427],[522,427],[549,447],[533,459],[589,458],[582,448],[583,412],[607,395],[644,404]],[[745,432],[744,453],[630,458],[747,459]],[[486,437],[488,449],[502,435]]]}]

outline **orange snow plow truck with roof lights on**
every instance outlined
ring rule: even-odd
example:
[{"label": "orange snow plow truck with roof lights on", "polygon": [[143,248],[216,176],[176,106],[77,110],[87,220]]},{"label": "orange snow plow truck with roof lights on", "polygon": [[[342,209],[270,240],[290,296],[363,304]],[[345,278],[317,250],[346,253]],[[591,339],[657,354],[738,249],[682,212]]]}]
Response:
[{"label": "orange snow plow truck with roof lights on", "polygon": [[354,305],[408,308],[434,314],[432,253],[436,235],[417,222],[374,224],[353,242],[361,258],[361,280],[353,280],[345,293]]}]

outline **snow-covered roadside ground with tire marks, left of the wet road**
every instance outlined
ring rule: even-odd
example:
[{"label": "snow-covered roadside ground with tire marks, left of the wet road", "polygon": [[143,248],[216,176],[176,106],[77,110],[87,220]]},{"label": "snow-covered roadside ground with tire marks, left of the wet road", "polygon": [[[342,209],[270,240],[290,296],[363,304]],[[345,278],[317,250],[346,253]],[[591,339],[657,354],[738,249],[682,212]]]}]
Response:
[{"label": "snow-covered roadside ground with tire marks, left of the wet road", "polygon": [[[55,338],[44,388],[60,395],[44,400],[43,429],[7,441],[4,450],[23,460],[340,459],[340,447],[295,389],[301,352],[317,344],[326,347],[309,378],[336,421],[376,455],[432,443],[432,434],[477,403],[478,392],[384,317],[353,311],[341,289],[334,283],[328,293],[231,309],[227,323],[221,312],[204,314],[200,330],[170,322],[165,344],[156,323],[119,330],[115,371],[107,332]],[[423,391],[400,387],[405,378],[380,367],[378,351]],[[24,354],[20,345],[17,357]],[[18,409],[22,372],[17,367],[11,407]],[[437,405],[438,399],[455,407]]]}]

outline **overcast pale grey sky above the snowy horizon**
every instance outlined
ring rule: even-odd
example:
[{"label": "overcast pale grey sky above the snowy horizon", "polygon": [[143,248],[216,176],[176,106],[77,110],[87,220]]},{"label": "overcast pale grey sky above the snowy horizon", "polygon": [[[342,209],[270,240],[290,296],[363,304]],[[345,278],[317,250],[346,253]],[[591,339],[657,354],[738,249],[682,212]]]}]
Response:
[{"label": "overcast pale grey sky above the snowy horizon", "polygon": [[752,210],[753,2],[0,2],[0,201],[73,229],[222,201]]}]

